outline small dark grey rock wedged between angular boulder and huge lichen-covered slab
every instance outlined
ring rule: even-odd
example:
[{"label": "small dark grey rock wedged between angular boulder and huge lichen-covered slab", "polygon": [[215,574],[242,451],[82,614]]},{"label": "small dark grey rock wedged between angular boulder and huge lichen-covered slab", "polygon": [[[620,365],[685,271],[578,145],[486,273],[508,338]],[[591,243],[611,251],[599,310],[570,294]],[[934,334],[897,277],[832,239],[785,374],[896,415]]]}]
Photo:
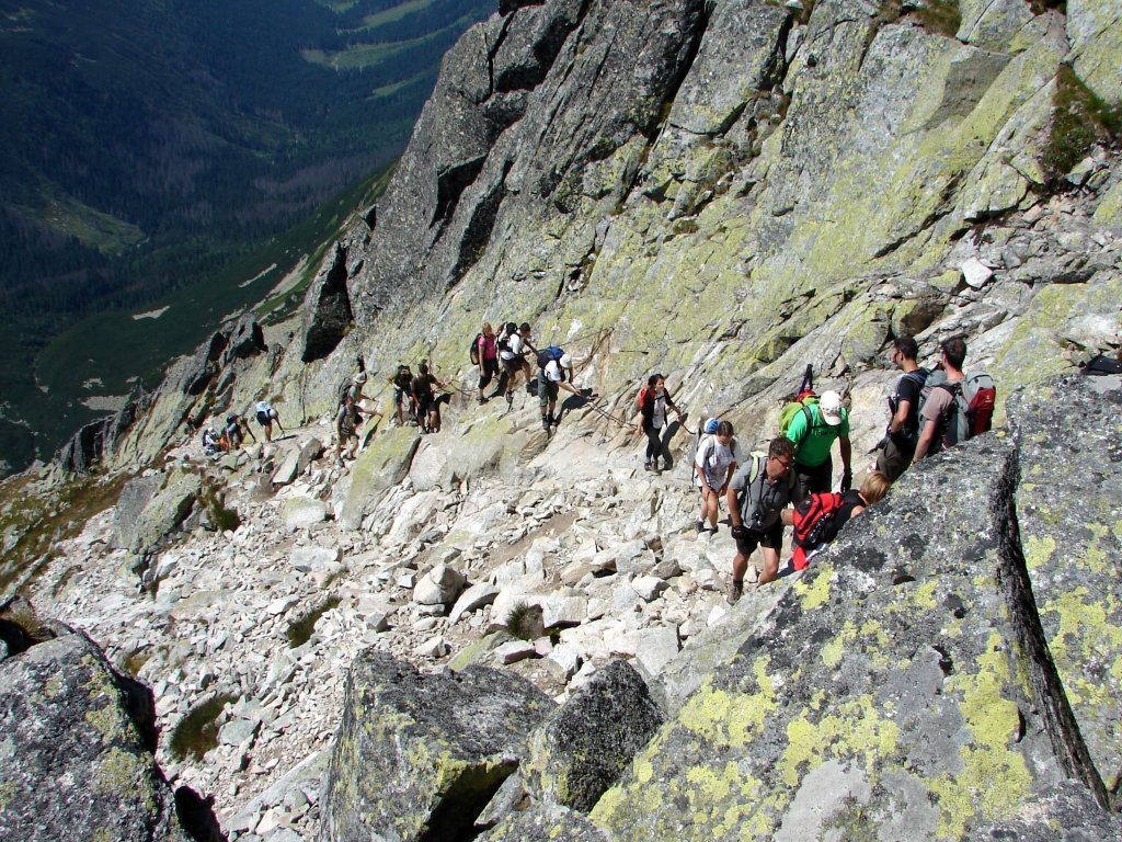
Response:
[{"label": "small dark grey rock wedged between angular boulder and huge lichen-covered slab", "polygon": [[526,790],[587,813],[661,724],[640,674],[613,661],[534,731],[522,766]]}]

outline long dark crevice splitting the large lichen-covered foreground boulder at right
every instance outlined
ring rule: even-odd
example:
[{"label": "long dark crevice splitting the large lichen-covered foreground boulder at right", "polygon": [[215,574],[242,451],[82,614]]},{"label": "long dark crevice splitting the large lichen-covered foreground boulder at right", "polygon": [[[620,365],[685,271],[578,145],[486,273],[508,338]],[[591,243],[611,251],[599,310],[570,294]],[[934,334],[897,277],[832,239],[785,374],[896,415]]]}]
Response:
[{"label": "long dark crevice splitting the large lichen-covered foreground boulder at right", "polygon": [[1014,449],[1005,460],[993,498],[996,519],[1001,567],[999,584],[1004,589],[1005,602],[1023,649],[1029,681],[1037,698],[1048,739],[1060,768],[1070,778],[1082,782],[1103,808],[1110,809],[1110,798],[1103,779],[1091,758],[1079,731],[1072,706],[1052,661],[1037,611],[1032,584],[1029,580],[1024,551],[1021,547],[1020,524],[1017,520],[1017,486],[1020,482],[1020,451]]}]

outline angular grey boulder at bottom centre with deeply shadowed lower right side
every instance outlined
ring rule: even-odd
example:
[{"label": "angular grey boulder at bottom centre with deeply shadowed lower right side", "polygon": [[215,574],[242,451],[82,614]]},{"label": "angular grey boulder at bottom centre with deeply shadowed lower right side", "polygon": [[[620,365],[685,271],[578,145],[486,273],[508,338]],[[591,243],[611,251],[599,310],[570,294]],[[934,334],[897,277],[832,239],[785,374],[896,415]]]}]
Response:
[{"label": "angular grey boulder at bottom centre with deeply shadowed lower right side", "polygon": [[322,838],[457,839],[525,753],[554,703],[482,667],[422,675],[368,649],[347,677]]}]

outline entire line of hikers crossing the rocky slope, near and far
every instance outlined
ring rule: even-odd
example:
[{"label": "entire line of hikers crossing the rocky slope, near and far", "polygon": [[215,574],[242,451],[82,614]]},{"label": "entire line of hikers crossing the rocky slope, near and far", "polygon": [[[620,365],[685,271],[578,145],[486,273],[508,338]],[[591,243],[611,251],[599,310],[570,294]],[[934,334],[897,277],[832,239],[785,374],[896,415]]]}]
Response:
[{"label": "entire line of hikers crossing the rocky slope, near and far", "polygon": [[[572,384],[572,357],[555,346],[539,350],[527,322],[521,326],[506,322],[498,333],[489,322],[484,322],[471,342],[469,358],[479,370],[476,400],[480,405],[499,395],[505,395],[508,406],[512,405],[519,377],[524,378],[527,390],[537,395],[542,428],[546,432],[558,423],[555,409],[561,390],[586,401],[590,399],[587,390],[582,392]],[[984,373],[966,376],[964,340],[944,341],[939,363],[931,372],[920,367],[918,358],[914,338],[902,336],[893,341],[889,361],[900,375],[888,397],[889,422],[874,449],[876,461],[856,489],[848,410],[838,392],[820,395],[813,392],[809,366],[799,393],[780,412],[779,434],[771,439],[765,452],[745,456],[727,420],[710,418],[697,431],[691,477],[700,495],[700,506],[693,528],[698,534],[717,534],[720,505],[725,502],[729,532],[736,541],[727,593],[730,603],[743,594],[748,557],[757,548],[763,558],[757,583],[765,584],[779,576],[785,527],[793,528],[791,564],[794,569],[802,569],[844,523],[880,502],[912,464],[990,429],[995,396],[993,381]],[[536,376],[532,359],[537,363]],[[364,403],[366,383],[366,372],[359,370],[339,390],[334,431],[340,466],[344,457],[357,456],[364,417],[383,417]],[[491,383],[495,387],[487,394]],[[417,366],[416,375],[410,366],[399,365],[389,384],[394,390],[393,418],[399,425],[415,424],[422,433],[440,431],[440,406],[449,402],[449,392],[454,386],[440,381],[424,363]],[[647,378],[636,396],[635,411],[635,433],[646,437],[644,469],[654,474],[670,469],[670,440],[683,425],[684,413],[666,390],[663,375]],[[670,424],[670,413],[677,418],[677,425]],[[270,441],[273,425],[279,427],[276,410],[263,400],[256,405],[256,418],[265,441]],[[220,437],[210,430],[204,433],[204,447],[212,446],[215,452],[229,450],[239,447],[246,434],[254,438],[246,420],[230,415]],[[837,492],[830,489],[835,441],[842,460]]]}]

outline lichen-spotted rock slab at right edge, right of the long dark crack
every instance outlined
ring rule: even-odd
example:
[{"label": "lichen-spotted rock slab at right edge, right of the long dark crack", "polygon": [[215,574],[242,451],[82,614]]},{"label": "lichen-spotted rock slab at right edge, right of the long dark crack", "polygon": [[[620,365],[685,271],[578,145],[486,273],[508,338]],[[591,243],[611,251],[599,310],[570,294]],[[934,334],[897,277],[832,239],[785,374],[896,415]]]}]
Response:
[{"label": "lichen-spotted rock slab at right edge, right of the long dark crack", "polygon": [[1122,386],[1073,375],[1011,399],[1021,541],[1048,649],[1103,782],[1122,775]]}]

